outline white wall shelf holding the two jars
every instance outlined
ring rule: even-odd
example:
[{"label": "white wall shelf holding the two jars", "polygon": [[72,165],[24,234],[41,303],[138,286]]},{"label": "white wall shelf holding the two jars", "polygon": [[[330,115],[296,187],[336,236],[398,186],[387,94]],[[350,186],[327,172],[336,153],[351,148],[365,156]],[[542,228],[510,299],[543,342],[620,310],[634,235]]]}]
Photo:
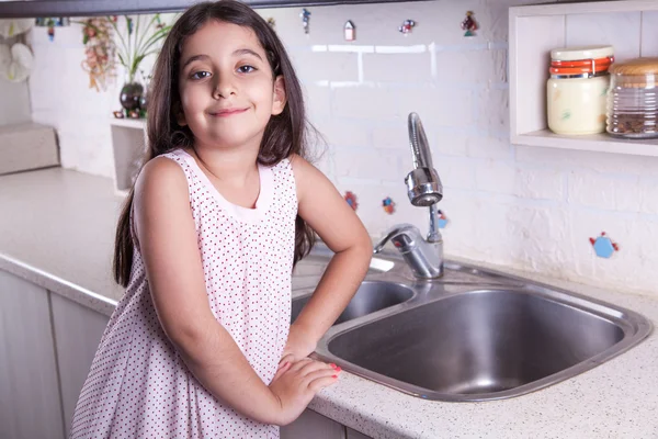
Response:
[{"label": "white wall shelf holding the two jars", "polygon": [[658,1],[536,4],[512,7],[509,13],[512,144],[658,157],[658,138],[563,136],[546,123],[551,49],[610,44],[616,60],[658,56]]}]

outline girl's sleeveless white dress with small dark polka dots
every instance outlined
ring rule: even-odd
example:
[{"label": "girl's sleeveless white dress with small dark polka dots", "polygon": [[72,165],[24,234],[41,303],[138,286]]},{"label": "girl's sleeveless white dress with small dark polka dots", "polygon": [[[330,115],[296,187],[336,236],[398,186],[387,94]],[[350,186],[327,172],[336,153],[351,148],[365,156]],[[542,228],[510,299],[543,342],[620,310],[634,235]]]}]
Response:
[{"label": "girl's sleeveless white dress with small dark polka dots", "polygon": [[[297,198],[290,160],[259,167],[256,209],[229,203],[182,149],[211,309],[265,384],[291,319]],[[256,403],[256,402],[254,402]],[[110,318],[73,415],[71,438],[277,438],[208,393],[169,341],[135,248],[131,282]]]}]

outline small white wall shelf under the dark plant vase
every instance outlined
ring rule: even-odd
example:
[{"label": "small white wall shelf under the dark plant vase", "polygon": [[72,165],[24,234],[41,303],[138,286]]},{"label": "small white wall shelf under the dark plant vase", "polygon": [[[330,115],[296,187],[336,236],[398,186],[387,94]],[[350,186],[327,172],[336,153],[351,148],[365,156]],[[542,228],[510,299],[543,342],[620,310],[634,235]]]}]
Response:
[{"label": "small white wall shelf under the dark plant vase", "polygon": [[146,121],[143,119],[110,120],[112,154],[114,157],[114,191],[126,196],[133,187],[133,178],[139,170],[139,159],[146,147]]}]

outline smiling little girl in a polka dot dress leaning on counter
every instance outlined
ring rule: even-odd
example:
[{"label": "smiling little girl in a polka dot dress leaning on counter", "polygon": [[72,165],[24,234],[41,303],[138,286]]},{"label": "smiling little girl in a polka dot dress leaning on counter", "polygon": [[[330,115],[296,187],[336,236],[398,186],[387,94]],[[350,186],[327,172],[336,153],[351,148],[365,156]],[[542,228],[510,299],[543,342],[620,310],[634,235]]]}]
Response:
[{"label": "smiling little girl in a polka dot dress leaning on counter", "polygon": [[[200,3],[155,66],[147,161],[121,215],[118,303],[72,438],[276,438],[339,368],[307,358],[365,277],[372,244],[303,157],[302,89],[247,5]],[[336,252],[293,325],[313,230]]]}]

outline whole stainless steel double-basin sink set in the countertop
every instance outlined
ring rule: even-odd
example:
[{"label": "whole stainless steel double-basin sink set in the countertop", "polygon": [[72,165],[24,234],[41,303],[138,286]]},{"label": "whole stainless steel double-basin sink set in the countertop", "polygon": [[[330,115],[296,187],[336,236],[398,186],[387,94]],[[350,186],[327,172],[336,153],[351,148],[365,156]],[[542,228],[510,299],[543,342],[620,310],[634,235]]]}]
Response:
[{"label": "whole stainless steel double-basin sink set in the countertop", "polygon": [[[293,322],[330,257],[317,246],[295,269]],[[441,279],[416,280],[385,252],[314,357],[413,396],[489,401],[572,378],[650,331],[629,309],[492,270],[446,261]]]}]

